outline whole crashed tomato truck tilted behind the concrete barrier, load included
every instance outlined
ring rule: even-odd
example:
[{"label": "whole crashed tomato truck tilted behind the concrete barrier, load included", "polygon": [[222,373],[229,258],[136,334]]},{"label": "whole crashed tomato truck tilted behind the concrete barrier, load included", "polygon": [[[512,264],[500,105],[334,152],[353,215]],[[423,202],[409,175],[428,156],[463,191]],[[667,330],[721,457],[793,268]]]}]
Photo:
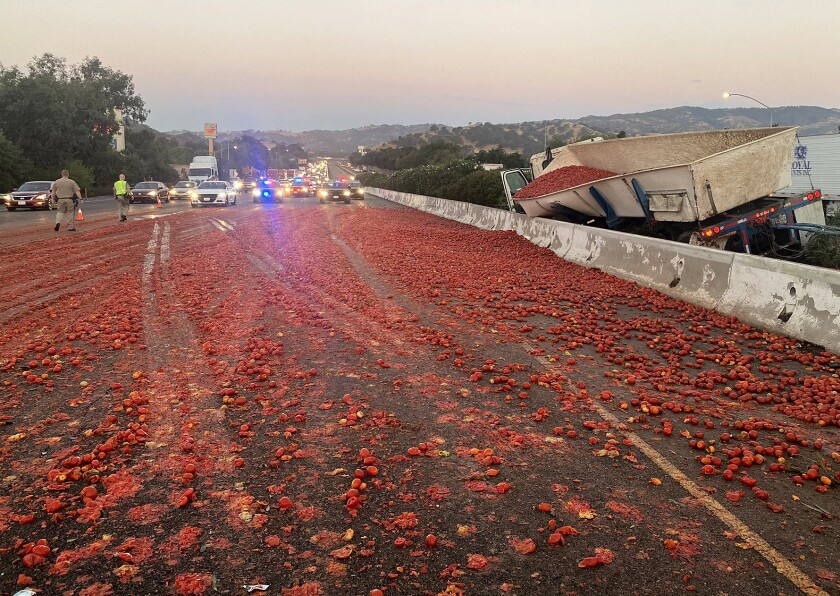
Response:
[{"label": "whole crashed tomato truck tilted behind the concrete barrier, load included", "polygon": [[795,139],[796,127],[778,127],[587,141],[538,153],[530,172],[502,180],[511,208],[532,217],[793,255],[815,234],[840,234],[819,189],[778,193]]}]

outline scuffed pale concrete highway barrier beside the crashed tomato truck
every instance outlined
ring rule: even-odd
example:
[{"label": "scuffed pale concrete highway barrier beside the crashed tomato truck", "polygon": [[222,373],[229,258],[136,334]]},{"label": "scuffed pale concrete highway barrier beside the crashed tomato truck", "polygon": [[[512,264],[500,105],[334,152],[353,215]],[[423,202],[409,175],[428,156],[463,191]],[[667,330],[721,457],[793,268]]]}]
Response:
[{"label": "scuffed pale concrete highway barrier beside the crashed tomato truck", "polygon": [[840,354],[840,271],[368,188],[485,230],[513,230],[557,256]]}]

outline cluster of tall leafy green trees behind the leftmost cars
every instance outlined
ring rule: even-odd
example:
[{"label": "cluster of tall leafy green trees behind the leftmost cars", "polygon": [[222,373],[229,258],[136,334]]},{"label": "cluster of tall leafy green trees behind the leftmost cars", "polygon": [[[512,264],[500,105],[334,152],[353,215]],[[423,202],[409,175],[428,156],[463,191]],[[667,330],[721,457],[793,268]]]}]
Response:
[{"label": "cluster of tall leafy green trees behind the leftmost cars", "polygon": [[[115,110],[126,124],[126,150],[111,140]],[[70,64],[52,54],[25,69],[0,65],[0,191],[26,180],[55,180],[62,169],[88,193],[110,188],[120,172],[129,180],[173,182],[177,143],[146,126],[148,110],[132,77],[86,58]]]}]

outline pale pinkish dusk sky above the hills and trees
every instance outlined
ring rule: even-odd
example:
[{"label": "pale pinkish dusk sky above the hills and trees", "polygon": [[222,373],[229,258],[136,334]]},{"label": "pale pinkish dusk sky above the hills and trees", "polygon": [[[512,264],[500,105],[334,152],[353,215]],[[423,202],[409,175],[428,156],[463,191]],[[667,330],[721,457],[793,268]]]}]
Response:
[{"label": "pale pinkish dusk sky above the hills and trees", "polygon": [[840,107],[837,0],[0,0],[0,64],[130,74],[158,130]]}]

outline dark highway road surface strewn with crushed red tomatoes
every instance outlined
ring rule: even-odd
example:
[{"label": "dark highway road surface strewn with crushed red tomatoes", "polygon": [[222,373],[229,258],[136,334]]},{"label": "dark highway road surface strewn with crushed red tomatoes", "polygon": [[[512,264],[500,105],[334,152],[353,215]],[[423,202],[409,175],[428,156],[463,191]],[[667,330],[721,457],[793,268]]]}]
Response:
[{"label": "dark highway road surface strewn with crushed red tomatoes", "polygon": [[837,356],[370,195],[83,212],[0,213],[0,594],[840,593]]}]

